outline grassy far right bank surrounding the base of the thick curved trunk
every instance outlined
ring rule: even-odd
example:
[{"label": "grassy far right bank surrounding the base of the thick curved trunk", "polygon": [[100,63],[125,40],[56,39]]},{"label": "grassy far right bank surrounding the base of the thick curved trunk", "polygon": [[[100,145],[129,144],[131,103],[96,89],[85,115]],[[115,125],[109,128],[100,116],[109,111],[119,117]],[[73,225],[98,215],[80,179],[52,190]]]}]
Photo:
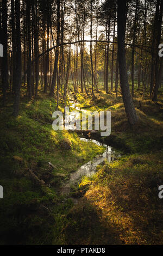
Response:
[{"label": "grassy far right bank surrounding the base of the thick curved trunk", "polygon": [[[95,93],[96,99],[92,100],[85,94],[78,93],[77,99],[80,107],[87,105],[89,111],[111,111],[111,136],[110,141],[119,147],[128,149],[131,153],[161,149],[163,146],[163,102],[162,93],[159,94],[158,104],[150,101],[148,96],[142,99],[142,92],[135,92],[134,105],[139,117],[139,122],[130,127],[127,121],[122,96],[115,93],[106,94],[104,91]],[[141,102],[141,107],[140,103]]]}]

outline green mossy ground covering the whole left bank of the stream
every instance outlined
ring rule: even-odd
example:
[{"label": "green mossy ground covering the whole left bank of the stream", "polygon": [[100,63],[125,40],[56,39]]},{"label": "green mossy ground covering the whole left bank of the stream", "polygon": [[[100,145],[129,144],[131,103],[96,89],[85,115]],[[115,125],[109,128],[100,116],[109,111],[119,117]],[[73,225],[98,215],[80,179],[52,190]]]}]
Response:
[{"label": "green mossy ground covering the whole left bank of the stream", "polygon": [[[0,184],[4,188],[4,199],[0,202],[0,243],[59,244],[65,214],[73,203],[61,197],[58,188],[71,172],[104,149],[80,141],[76,133],[52,129],[54,98],[39,93],[29,101],[22,90],[17,118],[12,117],[11,102],[9,94],[7,106],[0,113]],[[65,138],[71,142],[70,150],[61,148]],[[29,170],[45,184],[35,184]]]}]

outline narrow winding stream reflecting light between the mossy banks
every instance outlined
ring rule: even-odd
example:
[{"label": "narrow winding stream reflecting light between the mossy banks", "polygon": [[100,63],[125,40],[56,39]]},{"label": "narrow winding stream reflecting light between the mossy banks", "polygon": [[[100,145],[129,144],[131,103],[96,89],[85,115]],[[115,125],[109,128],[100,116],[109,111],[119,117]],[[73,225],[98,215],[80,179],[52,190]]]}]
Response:
[{"label": "narrow winding stream reflecting light between the mossy banks", "polygon": [[[75,101],[71,100],[71,107],[77,109],[78,111],[83,111],[79,107],[76,106],[77,103]],[[85,111],[85,110],[84,110]],[[80,138],[81,141],[85,141],[87,143],[93,142],[96,145],[104,146],[106,150],[102,155],[97,155],[94,157],[91,161],[83,164],[76,172],[71,173],[70,179],[67,180],[62,187],[60,188],[60,193],[63,194],[69,194],[71,185],[78,184],[82,176],[91,176],[97,172],[97,166],[100,164],[103,164],[106,161],[109,163],[111,161],[114,161],[117,157],[121,157],[120,153],[118,153],[114,148],[110,147],[110,145],[103,144],[95,139],[87,139],[87,138]]]}]

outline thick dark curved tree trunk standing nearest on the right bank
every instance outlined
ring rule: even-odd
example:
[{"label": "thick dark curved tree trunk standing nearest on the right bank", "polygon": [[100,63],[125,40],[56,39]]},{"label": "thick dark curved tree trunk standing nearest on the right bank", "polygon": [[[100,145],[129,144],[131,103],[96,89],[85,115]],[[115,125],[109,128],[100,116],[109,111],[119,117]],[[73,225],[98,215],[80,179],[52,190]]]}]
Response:
[{"label": "thick dark curved tree trunk standing nearest on the right bank", "polygon": [[137,123],[138,118],[131,98],[125,52],[125,35],[127,19],[127,0],[118,0],[118,59],[120,66],[120,81],[124,107],[130,125]]}]

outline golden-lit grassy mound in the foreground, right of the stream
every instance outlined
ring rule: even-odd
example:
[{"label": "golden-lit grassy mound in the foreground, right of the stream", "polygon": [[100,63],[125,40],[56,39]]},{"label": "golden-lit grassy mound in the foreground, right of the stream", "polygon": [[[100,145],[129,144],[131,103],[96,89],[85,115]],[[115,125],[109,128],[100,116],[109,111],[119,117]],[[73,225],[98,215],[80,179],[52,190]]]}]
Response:
[{"label": "golden-lit grassy mound in the foreground, right of the stream", "polygon": [[[93,181],[87,178],[89,190],[71,210],[72,217],[67,216],[65,243],[82,245],[84,240],[86,245],[162,245],[162,201],[158,197],[158,185],[163,182],[162,156],[162,152],[126,156],[100,168]],[[82,223],[81,211],[87,216]],[[89,224],[91,230],[96,224],[95,234],[86,231],[89,219],[95,221]]]}]

